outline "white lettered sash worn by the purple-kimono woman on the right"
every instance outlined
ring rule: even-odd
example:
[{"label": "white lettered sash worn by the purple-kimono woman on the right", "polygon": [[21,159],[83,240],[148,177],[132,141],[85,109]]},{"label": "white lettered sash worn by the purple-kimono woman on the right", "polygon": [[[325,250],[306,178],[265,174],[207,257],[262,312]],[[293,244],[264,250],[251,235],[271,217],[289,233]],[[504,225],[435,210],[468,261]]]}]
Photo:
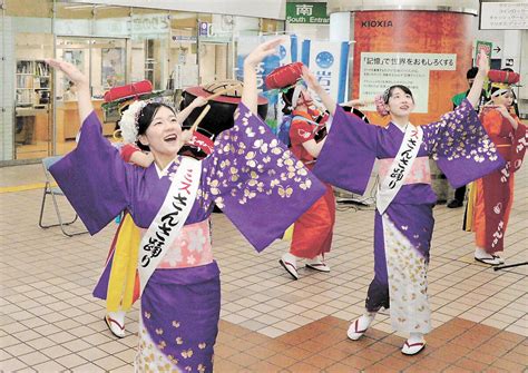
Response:
[{"label": "white lettered sash worn by the purple-kimono woman on the right", "polygon": [[[400,127],[398,127],[400,128]],[[401,141],[400,149],[385,177],[378,185],[378,195],[375,197],[375,207],[380,215],[383,215],[385,209],[392,203],[398,192],[403,185],[405,177],[409,175],[412,164],[418,156],[418,150],[422,144],[423,129],[410,124],[405,127],[405,135]]]}]

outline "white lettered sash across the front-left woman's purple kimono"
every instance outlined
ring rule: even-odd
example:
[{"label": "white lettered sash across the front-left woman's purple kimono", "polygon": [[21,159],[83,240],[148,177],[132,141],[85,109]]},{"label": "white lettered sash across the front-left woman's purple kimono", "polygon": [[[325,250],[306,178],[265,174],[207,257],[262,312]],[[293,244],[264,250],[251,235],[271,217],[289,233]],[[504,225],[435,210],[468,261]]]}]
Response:
[{"label": "white lettered sash across the front-left woman's purple kimono", "polygon": [[140,293],[184,227],[198,194],[201,176],[202,161],[183,157],[163,205],[139,244],[137,268]]}]

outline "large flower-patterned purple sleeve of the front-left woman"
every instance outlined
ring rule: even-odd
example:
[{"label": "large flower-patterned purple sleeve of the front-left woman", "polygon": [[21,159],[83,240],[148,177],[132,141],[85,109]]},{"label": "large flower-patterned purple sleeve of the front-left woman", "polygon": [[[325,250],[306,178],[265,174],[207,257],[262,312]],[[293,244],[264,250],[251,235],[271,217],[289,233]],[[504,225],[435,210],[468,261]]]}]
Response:
[{"label": "large flower-patterned purple sleeve of the front-left woman", "polygon": [[216,205],[261,252],[325,192],[270,128],[243,104],[209,156],[207,185]]}]

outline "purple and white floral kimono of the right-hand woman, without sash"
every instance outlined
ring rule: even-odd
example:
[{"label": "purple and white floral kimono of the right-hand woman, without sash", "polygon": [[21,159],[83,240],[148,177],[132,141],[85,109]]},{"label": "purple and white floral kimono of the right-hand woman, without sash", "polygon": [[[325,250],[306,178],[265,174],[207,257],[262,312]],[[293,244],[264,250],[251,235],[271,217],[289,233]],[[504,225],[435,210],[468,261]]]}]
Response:
[{"label": "purple and white floral kimono of the right-hand woman, without sash", "polygon": [[[453,187],[503,165],[468,100],[440,121],[421,128],[423,139],[414,163],[420,157],[433,157]],[[403,137],[404,131],[392,122],[385,128],[368,125],[338,107],[313,171],[321,180],[363,194],[375,159],[390,163]],[[369,287],[366,310],[390,306],[393,328],[409,333],[431,330],[427,267],[437,197],[427,176],[422,175],[419,181],[405,179],[387,210],[382,215],[375,213],[375,276]]]}]

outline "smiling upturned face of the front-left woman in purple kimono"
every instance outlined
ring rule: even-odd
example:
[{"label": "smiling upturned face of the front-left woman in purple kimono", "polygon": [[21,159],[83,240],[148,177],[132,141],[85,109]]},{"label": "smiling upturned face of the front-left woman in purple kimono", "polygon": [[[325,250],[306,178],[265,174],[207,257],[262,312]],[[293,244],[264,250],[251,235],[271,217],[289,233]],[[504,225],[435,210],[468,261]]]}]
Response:
[{"label": "smiling upturned face of the front-left woman in purple kimono", "polygon": [[156,160],[174,159],[180,148],[178,137],[182,135],[182,127],[176,120],[173,110],[160,106],[150,125],[144,135],[139,135],[139,141],[148,146]]}]

